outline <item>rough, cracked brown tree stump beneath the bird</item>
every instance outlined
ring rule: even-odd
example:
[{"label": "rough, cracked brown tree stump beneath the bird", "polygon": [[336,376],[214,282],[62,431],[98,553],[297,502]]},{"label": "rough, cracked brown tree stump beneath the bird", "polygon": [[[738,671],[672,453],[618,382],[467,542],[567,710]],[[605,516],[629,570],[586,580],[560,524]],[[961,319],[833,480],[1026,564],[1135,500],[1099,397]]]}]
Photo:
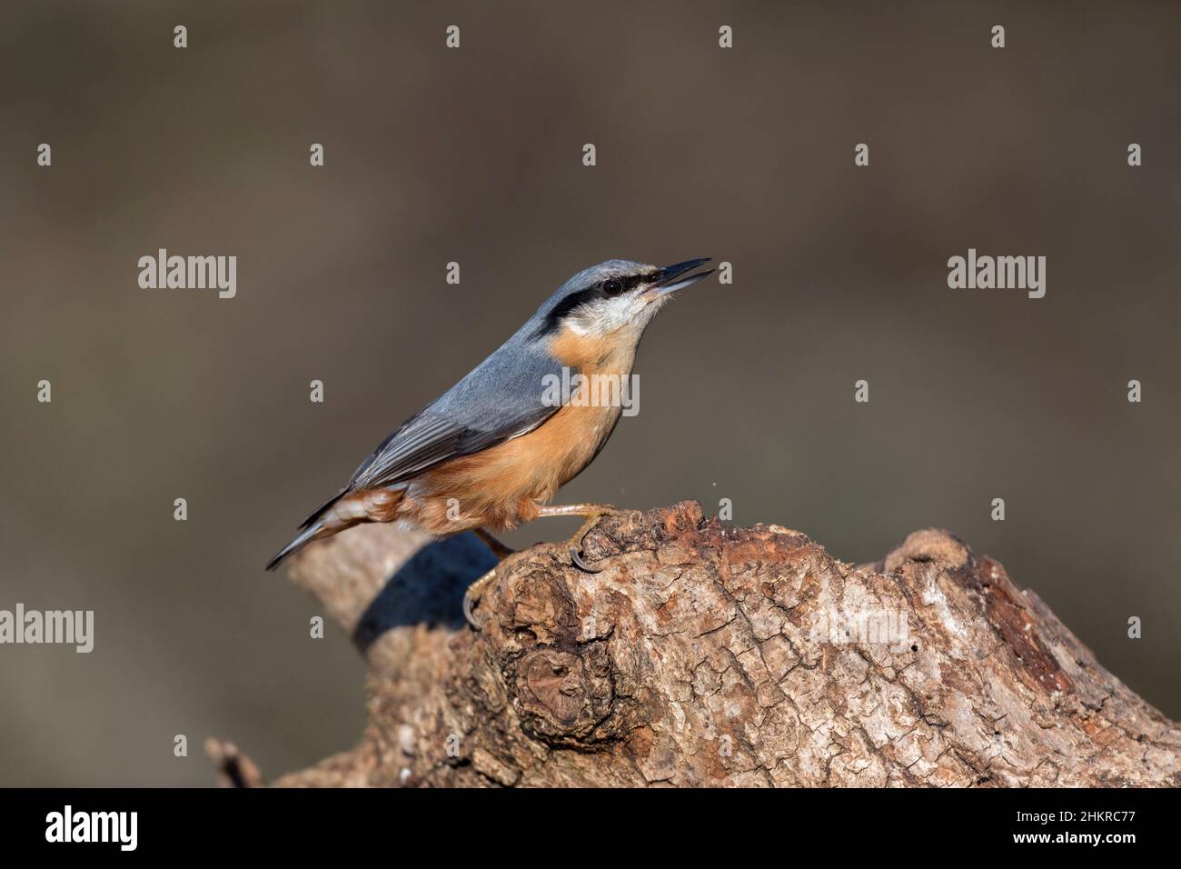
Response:
[{"label": "rough, cracked brown tree stump beneath the bird", "polygon": [[426,543],[366,526],[294,563],[367,657],[368,725],[274,784],[1181,784],[1177,726],[944,531],[852,566],[693,502],[608,518],[601,572],[505,559],[478,633],[459,596],[494,559]]}]

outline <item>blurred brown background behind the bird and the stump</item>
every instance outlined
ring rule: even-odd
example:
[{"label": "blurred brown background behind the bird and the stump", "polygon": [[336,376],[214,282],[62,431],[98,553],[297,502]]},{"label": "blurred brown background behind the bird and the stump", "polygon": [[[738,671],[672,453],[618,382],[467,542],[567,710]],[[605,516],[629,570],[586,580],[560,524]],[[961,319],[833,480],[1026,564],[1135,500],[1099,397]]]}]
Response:
[{"label": "blurred brown background behind the bird and the stump", "polygon": [[[262,564],[609,257],[735,284],[657,319],[569,499],[731,498],[853,562],[951,528],[1181,716],[1179,9],[6,4],[0,609],[93,609],[96,650],[0,648],[0,784],[209,784],[207,734],[268,774],[348,746],[361,662]],[[159,247],[236,255],[237,297],[141,290]],[[968,247],[1048,257],[1046,297],[948,290]]]}]

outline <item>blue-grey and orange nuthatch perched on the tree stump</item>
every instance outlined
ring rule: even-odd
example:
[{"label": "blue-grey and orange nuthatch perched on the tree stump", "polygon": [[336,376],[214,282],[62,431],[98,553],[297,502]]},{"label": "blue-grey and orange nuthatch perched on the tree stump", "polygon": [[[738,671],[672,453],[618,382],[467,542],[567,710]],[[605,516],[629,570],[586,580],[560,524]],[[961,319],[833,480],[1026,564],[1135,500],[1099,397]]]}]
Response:
[{"label": "blue-grey and orange nuthatch perched on the tree stump", "polygon": [[[629,378],[644,330],[674,292],[712,273],[690,274],[704,262],[709,258],[658,268],[614,259],[575,274],[498,350],[386,437],[267,570],[312,540],[366,521],[407,520],[438,537],[472,530],[503,556],[508,550],[491,532],[543,515],[586,517],[570,556],[592,570],[576,541],[618,511],[548,501],[602,449],[621,403],[554,402],[544,384],[563,369],[567,377]],[[464,598],[472,624],[483,582]]]}]

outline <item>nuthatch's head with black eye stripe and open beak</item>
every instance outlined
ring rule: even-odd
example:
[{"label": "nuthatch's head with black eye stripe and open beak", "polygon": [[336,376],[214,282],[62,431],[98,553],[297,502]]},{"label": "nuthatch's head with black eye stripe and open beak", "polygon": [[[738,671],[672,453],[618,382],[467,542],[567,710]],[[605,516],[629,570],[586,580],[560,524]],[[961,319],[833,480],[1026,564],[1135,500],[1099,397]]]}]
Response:
[{"label": "nuthatch's head with black eye stripe and open beak", "polygon": [[611,259],[583,268],[537,311],[535,337],[569,335],[634,345],[673,293],[713,273],[691,273],[709,261],[705,257],[661,268]]}]

